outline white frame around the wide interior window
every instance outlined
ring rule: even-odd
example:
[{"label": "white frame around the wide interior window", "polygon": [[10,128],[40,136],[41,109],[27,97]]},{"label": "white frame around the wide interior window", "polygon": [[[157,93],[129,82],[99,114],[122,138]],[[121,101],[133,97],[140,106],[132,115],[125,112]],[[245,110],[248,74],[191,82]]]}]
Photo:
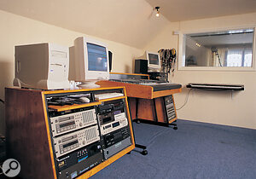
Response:
[{"label": "white frame around the wide interior window", "polygon": [[[231,67],[231,66],[184,66],[185,65],[185,35],[191,33],[203,33],[203,32],[222,32],[222,31],[232,31],[239,29],[253,29],[253,56],[252,56],[252,66],[251,67]],[[177,55],[177,70],[179,71],[226,71],[226,72],[252,72],[256,71],[256,26],[236,26],[236,27],[226,27],[226,28],[215,28],[207,30],[198,31],[180,31],[178,33],[178,55]]]}]

